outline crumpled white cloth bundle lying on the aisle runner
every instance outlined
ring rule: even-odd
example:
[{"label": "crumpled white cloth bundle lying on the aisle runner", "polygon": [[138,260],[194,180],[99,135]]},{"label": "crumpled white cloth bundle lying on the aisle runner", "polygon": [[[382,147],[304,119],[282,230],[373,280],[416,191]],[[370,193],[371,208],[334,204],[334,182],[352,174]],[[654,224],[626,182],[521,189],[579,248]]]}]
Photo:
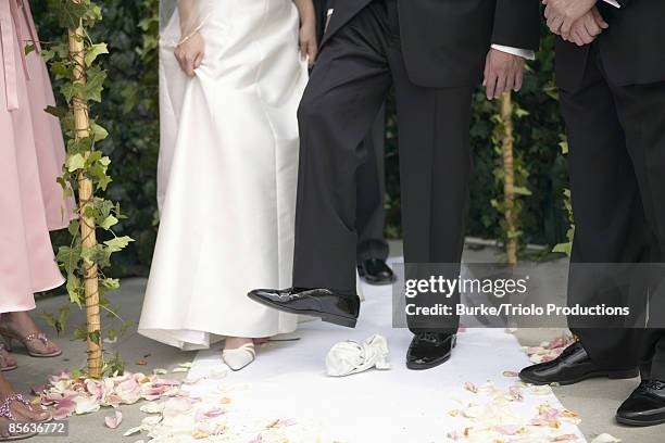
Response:
[{"label": "crumpled white cloth bundle lying on the aisle runner", "polygon": [[388,341],[375,333],[365,341],[343,341],[335,344],[326,356],[328,376],[343,377],[367,369],[390,369]]}]

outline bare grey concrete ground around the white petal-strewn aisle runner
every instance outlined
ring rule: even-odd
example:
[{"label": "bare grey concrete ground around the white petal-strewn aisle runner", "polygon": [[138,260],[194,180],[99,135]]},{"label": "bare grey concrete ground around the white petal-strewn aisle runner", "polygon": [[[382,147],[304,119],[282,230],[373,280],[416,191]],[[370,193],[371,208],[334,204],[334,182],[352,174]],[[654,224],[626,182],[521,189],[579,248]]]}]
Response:
[{"label": "bare grey concrete ground around the white petal-strewn aisle runner", "polygon": [[[391,244],[391,251],[394,256],[400,256],[401,244]],[[500,260],[497,250],[490,246],[486,248],[467,248],[465,250],[465,261],[469,263],[477,262],[497,262]],[[566,262],[561,260],[552,262],[553,269],[557,269],[555,275],[561,275],[565,271]],[[125,279],[122,283],[122,289],[111,295],[112,303],[118,306],[118,314],[125,319],[138,322],[143,299],[143,290],[146,279],[134,278]],[[561,287],[557,284],[557,287]],[[556,296],[561,296],[557,294]],[[43,300],[38,303],[37,312],[57,312],[58,307],[67,303],[66,296],[57,296]],[[83,321],[84,315],[72,309],[70,315],[70,325],[73,329],[74,325]],[[38,320],[41,322],[41,320]],[[45,331],[53,337],[47,326],[42,325]],[[562,333],[560,329],[520,329],[517,337],[525,345],[537,344],[543,340],[557,337]],[[68,337],[68,336],[67,336]],[[43,384],[47,377],[51,374],[57,374],[64,369],[74,369],[85,366],[85,349],[84,344],[78,341],[71,341],[65,337],[59,339],[59,343],[63,347],[63,355],[55,358],[30,358],[21,353],[15,353],[14,356],[20,368],[14,371],[4,372],[4,376],[11,383],[23,392],[28,392],[32,385]],[[114,345],[106,345],[109,350],[118,350],[123,354],[126,362],[126,368],[129,371],[150,372],[153,368],[171,369],[184,362],[191,362],[195,358],[196,352],[181,352],[173,347],[148,340],[136,333],[136,326]],[[146,366],[137,365],[139,360],[146,360]],[[170,375],[168,377],[184,377],[181,374]],[[663,432],[665,426],[633,429],[618,426],[614,422],[614,413],[620,402],[625,400],[637,385],[638,380],[589,380],[572,387],[555,387],[554,392],[562,403],[570,410],[580,415],[582,422],[580,429],[591,441],[595,435],[606,432],[623,440],[626,443],[661,443],[664,441]],[[39,436],[34,441],[54,442],[54,443],[115,443],[115,442],[135,442],[138,436],[123,438],[124,430],[137,426],[146,416],[139,412],[140,403],[136,405],[122,406],[123,423],[120,430],[111,430],[104,426],[103,417],[110,415],[109,409],[102,409],[97,414],[76,416],[70,420],[68,436]],[[396,442],[402,443],[402,442]],[[412,442],[409,442],[412,443]]]}]

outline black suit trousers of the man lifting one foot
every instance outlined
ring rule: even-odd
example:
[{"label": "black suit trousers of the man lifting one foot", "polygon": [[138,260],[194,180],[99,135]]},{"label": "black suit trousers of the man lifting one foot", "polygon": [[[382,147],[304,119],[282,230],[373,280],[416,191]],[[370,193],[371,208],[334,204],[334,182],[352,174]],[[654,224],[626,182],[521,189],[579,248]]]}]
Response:
[{"label": "black suit trousers of the man lifting one foot", "polygon": [[[329,39],[312,73],[298,112],[294,287],[355,292],[356,170],[366,157],[362,141],[391,87],[400,126],[405,261],[461,260],[473,88],[414,85],[406,74],[398,22],[397,3],[371,3]],[[426,271],[418,270],[425,268],[407,266],[407,278],[425,278]],[[435,300],[423,296],[419,303]],[[454,332],[457,320],[411,321],[410,327]]]}]

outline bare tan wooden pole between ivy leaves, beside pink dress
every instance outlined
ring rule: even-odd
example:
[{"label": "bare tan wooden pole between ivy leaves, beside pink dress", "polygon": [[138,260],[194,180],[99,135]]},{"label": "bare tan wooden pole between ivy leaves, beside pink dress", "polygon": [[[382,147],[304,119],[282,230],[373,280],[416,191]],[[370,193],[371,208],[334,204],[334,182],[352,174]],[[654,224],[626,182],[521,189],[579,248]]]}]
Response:
[{"label": "bare tan wooden pole between ivy leaves, beside pink dress", "polygon": [[[79,0],[73,0],[75,2]],[[70,56],[74,61],[74,84],[85,85],[85,46],[83,23],[76,29],[68,30]],[[88,103],[80,96],[75,96],[72,100],[74,112],[74,130],[76,140],[89,137]],[[84,157],[90,155],[90,151]],[[93,249],[97,245],[95,235],[95,218],[86,217],[86,207],[92,204],[93,188],[92,181],[84,172],[78,173],[78,208],[80,219],[80,236],[83,246]],[[102,350],[100,343],[101,318],[99,313],[99,279],[97,265],[84,261],[84,291],[86,299],[86,324],[87,324],[87,347],[88,347],[88,376],[100,378],[102,374]],[[96,338],[96,340],[93,340]]]}]

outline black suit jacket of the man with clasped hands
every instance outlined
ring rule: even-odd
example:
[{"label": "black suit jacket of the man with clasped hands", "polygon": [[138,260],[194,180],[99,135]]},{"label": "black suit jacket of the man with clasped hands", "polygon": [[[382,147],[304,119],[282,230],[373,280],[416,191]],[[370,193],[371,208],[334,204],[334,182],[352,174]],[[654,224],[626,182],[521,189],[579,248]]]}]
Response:
[{"label": "black suit jacket of the man with clasped hands", "polygon": [[[608,79],[619,86],[665,81],[665,0],[619,0],[619,3],[620,9],[598,3],[610,27],[594,45]],[[557,39],[560,88],[576,91],[581,87],[589,49]]]}]

